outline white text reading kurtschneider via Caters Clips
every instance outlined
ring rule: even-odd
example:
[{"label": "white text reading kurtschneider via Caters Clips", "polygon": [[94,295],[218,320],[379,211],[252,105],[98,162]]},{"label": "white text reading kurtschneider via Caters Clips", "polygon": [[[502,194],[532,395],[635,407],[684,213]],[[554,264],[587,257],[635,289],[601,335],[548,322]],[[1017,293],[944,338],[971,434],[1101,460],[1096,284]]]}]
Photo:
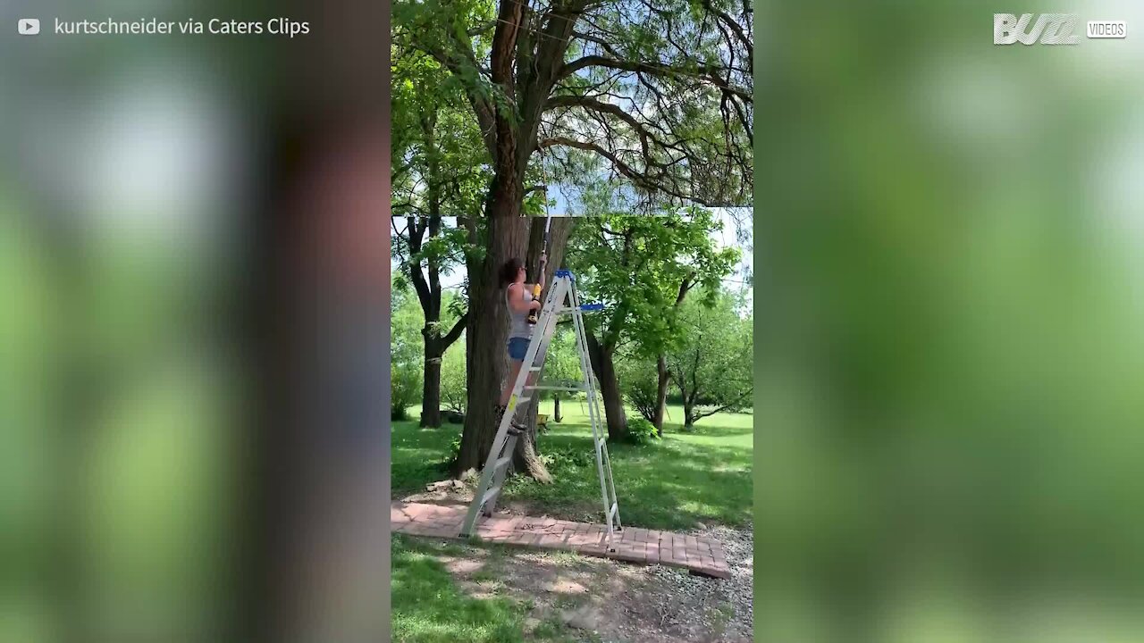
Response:
[{"label": "white text reading kurtschneider via Caters Clips", "polygon": [[229,21],[210,18],[199,21],[160,21],[157,18],[140,21],[55,21],[55,33],[63,35],[119,35],[119,34],[188,34],[204,33],[215,35],[307,35],[310,23],[291,18],[271,18],[269,21]]}]

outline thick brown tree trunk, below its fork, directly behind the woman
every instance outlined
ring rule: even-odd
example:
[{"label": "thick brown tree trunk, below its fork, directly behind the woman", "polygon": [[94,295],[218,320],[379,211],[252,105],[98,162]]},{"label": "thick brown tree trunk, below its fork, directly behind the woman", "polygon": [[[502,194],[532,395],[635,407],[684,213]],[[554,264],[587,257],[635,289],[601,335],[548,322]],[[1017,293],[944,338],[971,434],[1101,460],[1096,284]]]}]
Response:
[{"label": "thick brown tree trunk, below its fork, directly behind the woman", "polygon": [[519,185],[503,186],[494,180],[486,204],[488,241],[484,261],[469,261],[469,318],[466,328],[466,374],[468,412],[461,434],[461,448],[453,462],[456,476],[480,469],[496,427],[494,407],[500,399],[507,370],[505,346],[508,341],[508,311],[498,272],[509,257],[523,257],[527,241],[527,220],[521,217]]}]

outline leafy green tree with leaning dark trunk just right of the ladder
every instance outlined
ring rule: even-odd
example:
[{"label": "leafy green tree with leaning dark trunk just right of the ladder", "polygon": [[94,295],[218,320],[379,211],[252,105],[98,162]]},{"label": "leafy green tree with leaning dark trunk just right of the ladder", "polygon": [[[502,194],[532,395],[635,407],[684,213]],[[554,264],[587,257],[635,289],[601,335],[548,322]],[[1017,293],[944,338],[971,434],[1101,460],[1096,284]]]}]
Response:
[{"label": "leafy green tree with leaning dark trunk just right of the ladder", "polygon": [[702,284],[714,291],[738,260],[738,251],[717,248],[713,241],[710,235],[720,228],[704,208],[690,208],[686,215],[610,214],[581,222],[570,264],[580,276],[578,287],[585,299],[605,304],[586,322],[609,437],[627,434],[618,351],[659,355],[677,340],[673,310],[680,285]]}]

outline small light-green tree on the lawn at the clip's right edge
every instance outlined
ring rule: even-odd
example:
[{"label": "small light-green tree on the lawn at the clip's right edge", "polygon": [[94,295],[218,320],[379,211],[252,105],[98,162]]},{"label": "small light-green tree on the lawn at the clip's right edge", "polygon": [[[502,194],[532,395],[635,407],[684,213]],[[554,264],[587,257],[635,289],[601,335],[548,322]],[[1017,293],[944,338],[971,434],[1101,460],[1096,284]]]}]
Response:
[{"label": "small light-green tree on the lawn at the clip's right edge", "polygon": [[753,322],[739,317],[738,297],[720,292],[710,301],[692,299],[680,308],[683,341],[668,351],[672,381],[683,398],[683,427],[723,411],[750,405],[754,391]]}]

